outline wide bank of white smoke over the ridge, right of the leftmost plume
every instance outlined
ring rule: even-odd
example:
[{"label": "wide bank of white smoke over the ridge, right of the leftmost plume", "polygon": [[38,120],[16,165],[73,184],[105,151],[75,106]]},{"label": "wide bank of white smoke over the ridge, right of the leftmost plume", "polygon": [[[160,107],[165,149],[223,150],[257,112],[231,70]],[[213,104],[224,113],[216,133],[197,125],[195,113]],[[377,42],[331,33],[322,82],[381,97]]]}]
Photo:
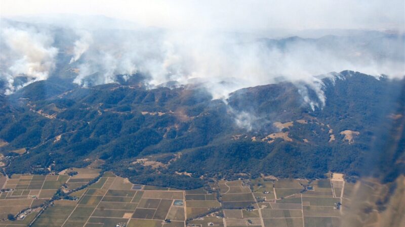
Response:
[{"label": "wide bank of white smoke over the ridge, right of the leftmost plume", "polygon": [[[236,33],[138,31],[97,41],[83,56],[74,82],[90,86],[116,81],[117,74],[150,76],[150,85],[169,81],[206,84],[214,98],[279,80],[301,81],[325,104],[316,75],[353,70],[380,76],[404,75],[404,37],[366,33],[319,39],[257,39]],[[105,48],[108,46],[109,48]]]}]

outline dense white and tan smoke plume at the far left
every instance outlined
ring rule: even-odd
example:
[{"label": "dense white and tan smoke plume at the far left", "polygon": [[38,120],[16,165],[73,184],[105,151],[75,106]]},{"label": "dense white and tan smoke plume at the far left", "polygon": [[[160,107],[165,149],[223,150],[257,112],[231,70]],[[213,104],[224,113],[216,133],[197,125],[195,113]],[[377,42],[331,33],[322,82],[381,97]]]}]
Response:
[{"label": "dense white and tan smoke plume at the far left", "polygon": [[[2,42],[7,47],[7,51],[2,51],[2,55],[7,54],[2,56],[2,64],[6,67],[2,73],[2,77],[7,81],[6,93],[49,77],[55,67],[55,56],[58,53],[58,49],[52,46],[52,35],[33,27],[5,27],[2,28]],[[14,80],[19,76],[26,77],[27,81],[15,87]]]}]

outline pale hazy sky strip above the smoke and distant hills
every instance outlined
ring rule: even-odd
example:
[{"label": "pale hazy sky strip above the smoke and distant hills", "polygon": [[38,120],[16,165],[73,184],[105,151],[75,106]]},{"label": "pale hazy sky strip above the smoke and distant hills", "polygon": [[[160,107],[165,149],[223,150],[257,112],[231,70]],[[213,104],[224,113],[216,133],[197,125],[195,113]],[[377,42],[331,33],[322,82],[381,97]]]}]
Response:
[{"label": "pale hazy sky strip above the smoke and distant hills", "polygon": [[0,0],[1,15],[105,15],[140,25],[166,28],[225,29],[373,29],[405,26],[403,0]]}]

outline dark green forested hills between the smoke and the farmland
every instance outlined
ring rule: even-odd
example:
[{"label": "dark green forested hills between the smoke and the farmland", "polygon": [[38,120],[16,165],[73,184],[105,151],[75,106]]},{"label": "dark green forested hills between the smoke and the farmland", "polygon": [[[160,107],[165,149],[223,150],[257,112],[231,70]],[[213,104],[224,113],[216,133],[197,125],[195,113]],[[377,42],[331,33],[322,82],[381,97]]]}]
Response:
[{"label": "dark green forested hills between the smoke and the farmland", "polygon": [[221,100],[198,84],[148,89],[135,78],[87,88],[50,78],[0,95],[6,174],[92,164],[134,183],[196,188],[260,174],[350,179],[379,174],[368,169],[382,161],[386,175],[405,169],[403,131],[381,158],[387,131],[403,124],[403,79],[343,71],[320,90],[280,82]]}]

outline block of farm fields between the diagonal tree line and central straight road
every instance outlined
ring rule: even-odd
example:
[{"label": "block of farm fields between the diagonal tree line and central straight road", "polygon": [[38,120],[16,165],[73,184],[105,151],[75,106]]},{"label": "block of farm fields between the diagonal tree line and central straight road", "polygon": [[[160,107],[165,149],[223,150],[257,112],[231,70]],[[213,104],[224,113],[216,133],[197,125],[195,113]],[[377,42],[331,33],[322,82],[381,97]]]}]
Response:
[{"label": "block of farm fields between the diagonal tree line and central straight road", "polygon": [[74,192],[77,200],[55,201],[33,226],[185,226],[184,191],[133,186],[127,179],[104,173],[94,184]]}]

